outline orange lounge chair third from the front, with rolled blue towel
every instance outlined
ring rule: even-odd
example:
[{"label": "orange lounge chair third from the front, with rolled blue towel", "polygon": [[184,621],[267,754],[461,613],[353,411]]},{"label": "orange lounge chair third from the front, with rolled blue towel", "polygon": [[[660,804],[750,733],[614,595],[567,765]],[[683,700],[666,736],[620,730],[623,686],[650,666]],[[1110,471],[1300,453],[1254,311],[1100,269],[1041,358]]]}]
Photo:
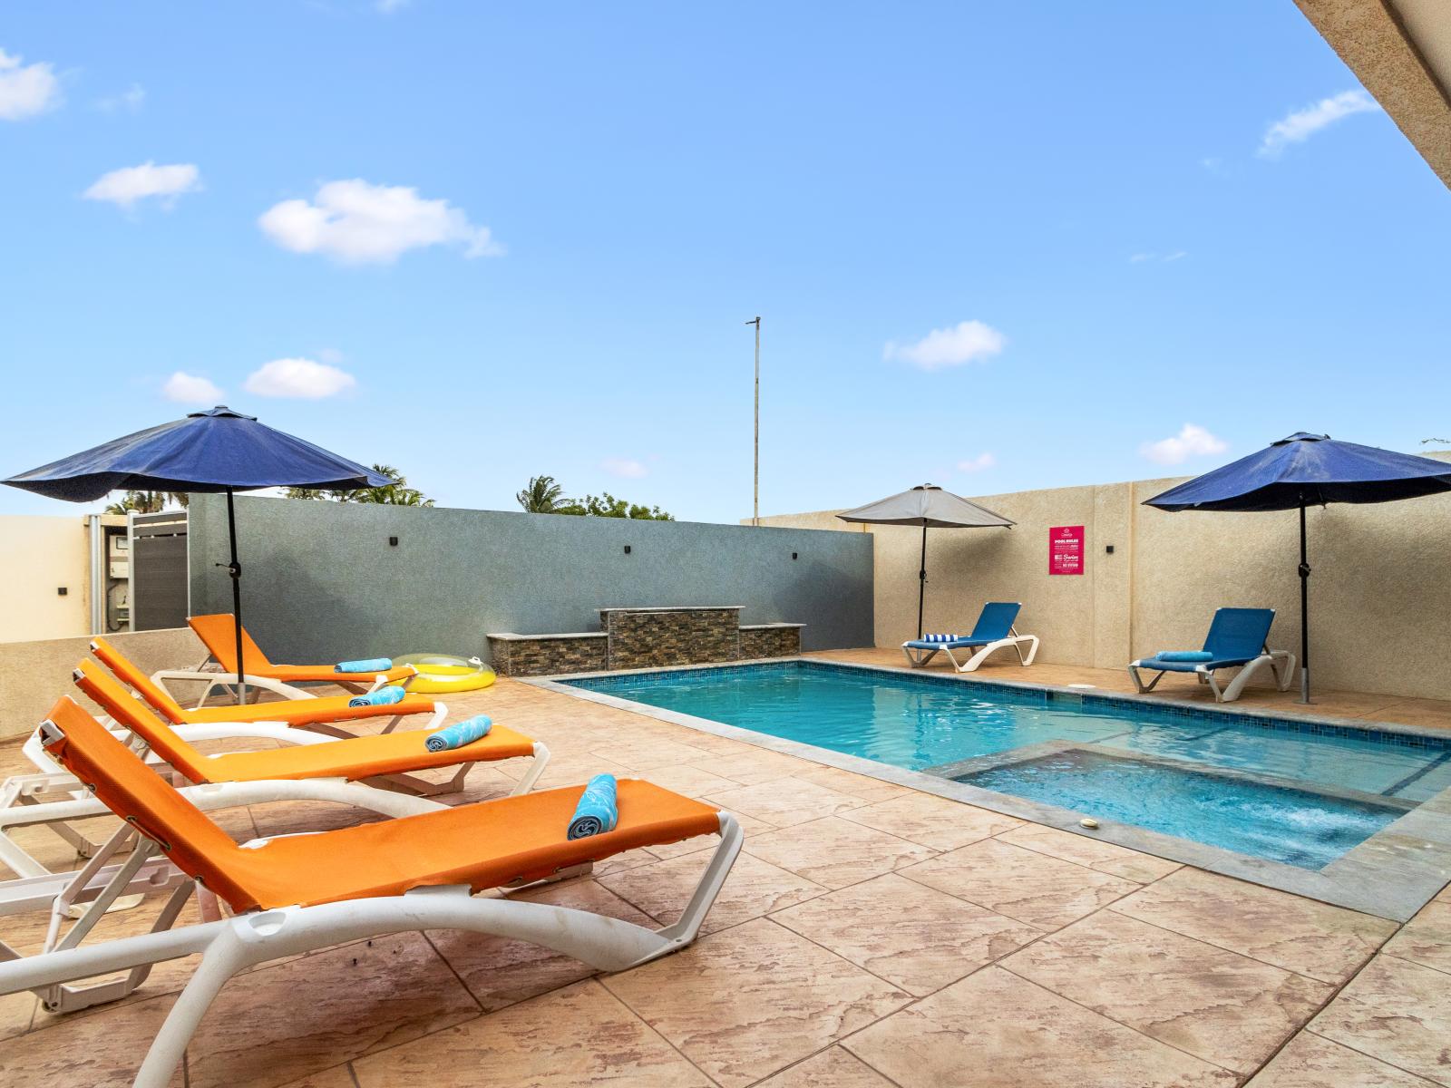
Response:
[{"label": "orange lounge chair third from the front, with rolled blue towel", "polygon": [[[387,706],[348,706],[348,695],[309,696],[306,699],[280,699],[274,702],[257,702],[231,706],[196,706],[187,709],[171,698],[171,693],[160,683],[147,676],[135,663],[104,638],[91,641],[91,653],[96,654],[107,669],[116,673],[122,683],[128,685],[151,708],[170,721],[173,725],[212,725],[219,722],[261,722],[280,721],[302,730],[326,733],[331,737],[351,737],[355,734],[337,728],[338,722],[364,721],[369,718],[392,718],[383,733],[392,733],[405,715],[428,714],[431,720],[424,728],[435,730],[443,725],[448,708],[424,695],[405,695],[399,702]],[[237,734],[231,734],[237,735]]]}]

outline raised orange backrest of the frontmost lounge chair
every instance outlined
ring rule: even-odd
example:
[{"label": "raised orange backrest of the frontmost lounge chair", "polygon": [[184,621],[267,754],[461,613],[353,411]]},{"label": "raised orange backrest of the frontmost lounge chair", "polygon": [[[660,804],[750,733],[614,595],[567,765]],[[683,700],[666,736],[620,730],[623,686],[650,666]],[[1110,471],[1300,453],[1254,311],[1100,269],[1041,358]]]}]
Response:
[{"label": "raised orange backrest of the frontmost lounge chair", "polygon": [[112,812],[160,844],[177,869],[197,878],[234,910],[257,905],[257,897],[244,886],[244,850],[74,699],[61,696],[41,724],[41,737],[46,751]]}]

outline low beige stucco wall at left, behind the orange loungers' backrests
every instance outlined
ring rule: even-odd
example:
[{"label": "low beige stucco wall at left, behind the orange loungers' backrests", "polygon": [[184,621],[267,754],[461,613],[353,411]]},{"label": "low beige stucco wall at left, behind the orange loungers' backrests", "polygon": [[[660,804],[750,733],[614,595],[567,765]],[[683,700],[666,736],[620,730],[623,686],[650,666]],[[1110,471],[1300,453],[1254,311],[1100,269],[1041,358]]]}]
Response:
[{"label": "low beige stucco wall at left, behind the orange loungers' backrests", "polygon": [[[189,627],[106,635],[148,673],[192,667],[206,651]],[[90,635],[0,643],[0,737],[29,733],[62,695],[91,706],[71,683],[71,669],[87,656]]]}]

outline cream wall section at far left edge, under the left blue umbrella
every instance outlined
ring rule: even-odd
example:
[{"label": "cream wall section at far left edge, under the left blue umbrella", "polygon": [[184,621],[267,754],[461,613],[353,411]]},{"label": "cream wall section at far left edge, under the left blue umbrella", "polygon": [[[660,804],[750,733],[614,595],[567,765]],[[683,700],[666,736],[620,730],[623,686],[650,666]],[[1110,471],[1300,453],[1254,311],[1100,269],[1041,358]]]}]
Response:
[{"label": "cream wall section at far left edge, under the left blue umbrella", "polygon": [[84,518],[0,516],[0,643],[87,634],[89,541]]}]

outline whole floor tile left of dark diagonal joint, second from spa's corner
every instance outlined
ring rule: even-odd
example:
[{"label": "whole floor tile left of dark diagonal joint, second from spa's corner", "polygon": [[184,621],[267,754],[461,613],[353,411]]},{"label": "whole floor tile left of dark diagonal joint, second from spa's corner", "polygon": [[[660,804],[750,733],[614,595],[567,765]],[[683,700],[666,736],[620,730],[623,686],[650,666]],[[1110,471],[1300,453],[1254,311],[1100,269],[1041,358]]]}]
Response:
[{"label": "whole floor tile left of dark diagonal joint, second from spa's corner", "polygon": [[1254,1072],[1333,992],[1323,982],[1113,911],[1074,923],[1003,966],[1242,1073]]}]

